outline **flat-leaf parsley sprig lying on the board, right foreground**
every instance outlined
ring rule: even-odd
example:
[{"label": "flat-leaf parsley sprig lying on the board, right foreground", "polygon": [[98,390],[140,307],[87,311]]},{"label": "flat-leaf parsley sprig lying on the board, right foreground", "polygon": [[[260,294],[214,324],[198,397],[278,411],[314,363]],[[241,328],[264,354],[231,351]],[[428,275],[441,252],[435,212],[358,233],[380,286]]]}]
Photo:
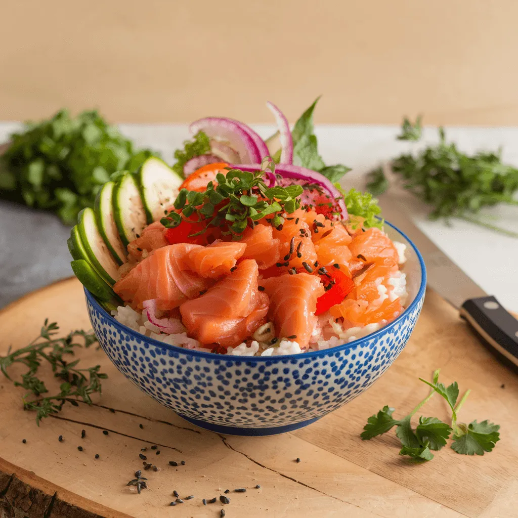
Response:
[{"label": "flat-leaf parsley sprig lying on the board, right foreground", "polygon": [[[457,403],[458,384],[455,381],[448,387],[439,383],[439,370],[434,372],[432,382],[419,378],[431,387],[431,391],[408,415],[402,419],[394,419],[394,408],[384,406],[377,414],[370,416],[364,431],[361,434],[363,440],[372,439],[385,434],[396,426],[396,436],[401,441],[400,455],[408,455],[423,461],[431,461],[434,454],[431,451],[440,450],[453,433],[451,449],[462,455],[483,455],[491,452],[495,443],[500,439],[499,425],[487,420],[478,423],[476,420],[469,424],[457,422],[457,412],[461,409],[471,391],[466,391],[462,399]],[[421,416],[419,423],[412,429],[412,416],[434,395],[439,394],[448,403],[452,413],[451,426],[435,417],[425,418]]]}]

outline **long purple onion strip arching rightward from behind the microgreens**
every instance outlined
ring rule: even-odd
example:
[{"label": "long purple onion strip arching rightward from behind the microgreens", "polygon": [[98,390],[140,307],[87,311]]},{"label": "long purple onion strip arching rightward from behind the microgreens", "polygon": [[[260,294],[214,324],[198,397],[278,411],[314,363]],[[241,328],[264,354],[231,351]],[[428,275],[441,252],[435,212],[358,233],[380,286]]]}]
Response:
[{"label": "long purple onion strip arching rightward from behind the microgreens", "polygon": [[[250,172],[261,170],[261,164],[233,164],[232,167]],[[275,166],[275,174],[282,177],[277,181],[281,186],[286,186],[290,183],[298,183],[300,185],[312,183],[318,185],[325,195],[336,200],[336,209],[341,213],[341,218],[343,220],[348,219],[347,207],[346,204],[343,203],[343,196],[333,183],[324,175],[321,175],[320,172],[312,171],[311,169],[306,169],[298,165],[278,164]],[[311,192],[305,192],[301,197],[303,198],[303,202],[306,200],[308,203],[312,202]]]}]

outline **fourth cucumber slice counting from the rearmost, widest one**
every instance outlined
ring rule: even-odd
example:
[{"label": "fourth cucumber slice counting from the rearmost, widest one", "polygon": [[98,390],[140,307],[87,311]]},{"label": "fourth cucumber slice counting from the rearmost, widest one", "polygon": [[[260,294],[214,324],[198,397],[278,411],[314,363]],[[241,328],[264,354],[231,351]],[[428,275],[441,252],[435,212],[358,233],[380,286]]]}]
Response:
[{"label": "fourth cucumber slice counting from the rearmost, widest one", "polygon": [[90,207],[79,212],[77,228],[87,260],[110,285],[119,278],[119,265],[111,255],[95,222],[95,212]]}]

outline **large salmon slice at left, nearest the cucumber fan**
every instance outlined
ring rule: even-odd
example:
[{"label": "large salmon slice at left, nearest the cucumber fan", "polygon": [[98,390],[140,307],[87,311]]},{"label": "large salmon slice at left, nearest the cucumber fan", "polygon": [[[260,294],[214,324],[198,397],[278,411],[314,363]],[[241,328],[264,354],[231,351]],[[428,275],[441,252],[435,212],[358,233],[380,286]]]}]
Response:
[{"label": "large salmon slice at left, nearest the cucumber fan", "polygon": [[113,290],[134,309],[142,309],[145,300],[156,299],[156,307],[167,311],[183,301],[198,297],[213,280],[190,271],[186,257],[197,244],[170,244],[156,249],[141,261],[124,278],[117,281]]}]

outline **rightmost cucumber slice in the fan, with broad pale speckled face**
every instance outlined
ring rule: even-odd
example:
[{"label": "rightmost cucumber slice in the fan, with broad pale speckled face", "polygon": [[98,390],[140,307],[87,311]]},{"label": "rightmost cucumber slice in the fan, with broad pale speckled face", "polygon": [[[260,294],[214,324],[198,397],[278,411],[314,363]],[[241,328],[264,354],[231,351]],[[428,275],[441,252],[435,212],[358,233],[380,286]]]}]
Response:
[{"label": "rightmost cucumber slice in the fan, with broad pale speckled face", "polygon": [[148,223],[160,220],[174,203],[183,180],[165,162],[154,156],[141,165],[137,179]]}]

